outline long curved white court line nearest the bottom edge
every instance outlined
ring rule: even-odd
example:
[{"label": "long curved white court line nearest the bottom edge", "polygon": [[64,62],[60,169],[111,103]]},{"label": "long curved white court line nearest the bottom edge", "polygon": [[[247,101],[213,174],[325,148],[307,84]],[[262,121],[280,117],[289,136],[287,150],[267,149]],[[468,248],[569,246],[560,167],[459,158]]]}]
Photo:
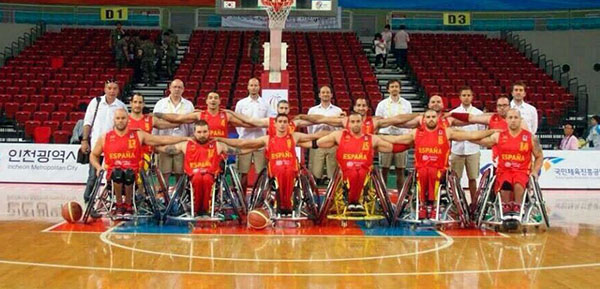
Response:
[{"label": "long curved white court line nearest the bottom edge", "polygon": [[267,277],[267,276],[280,276],[280,277],[353,277],[353,276],[355,276],[355,277],[361,277],[361,276],[456,275],[456,274],[544,271],[544,270],[576,269],[576,268],[588,268],[588,267],[599,267],[600,266],[600,263],[587,263],[587,264],[570,264],[570,265],[555,265],[555,266],[526,267],[526,268],[521,267],[521,268],[492,269],[492,270],[460,270],[460,271],[439,271],[439,272],[429,271],[429,272],[382,272],[382,273],[251,273],[251,272],[205,272],[205,271],[176,271],[176,270],[154,270],[154,269],[134,269],[134,268],[111,268],[111,267],[65,265],[65,264],[55,264],[55,263],[39,263],[39,262],[25,262],[25,261],[11,261],[11,260],[0,260],[0,264],[60,268],[60,269],[128,272],[128,273],[159,273],[159,274],[212,275],[212,276],[261,276],[261,277]]}]

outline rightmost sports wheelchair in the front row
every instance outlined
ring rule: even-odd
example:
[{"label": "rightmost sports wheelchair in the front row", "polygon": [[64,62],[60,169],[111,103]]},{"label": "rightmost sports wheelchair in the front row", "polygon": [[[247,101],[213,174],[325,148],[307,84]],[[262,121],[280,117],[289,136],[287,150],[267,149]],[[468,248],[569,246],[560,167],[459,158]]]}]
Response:
[{"label": "rightmost sports wheelchair in the front row", "polygon": [[502,197],[499,192],[494,191],[496,181],[496,170],[488,168],[479,181],[477,209],[474,217],[476,225],[480,228],[490,227],[495,231],[500,229],[506,231],[521,230],[527,232],[528,227],[539,228],[545,226],[550,228],[546,202],[542,196],[538,181],[529,177],[529,182],[523,193],[521,210],[516,213],[504,214],[502,210]]}]

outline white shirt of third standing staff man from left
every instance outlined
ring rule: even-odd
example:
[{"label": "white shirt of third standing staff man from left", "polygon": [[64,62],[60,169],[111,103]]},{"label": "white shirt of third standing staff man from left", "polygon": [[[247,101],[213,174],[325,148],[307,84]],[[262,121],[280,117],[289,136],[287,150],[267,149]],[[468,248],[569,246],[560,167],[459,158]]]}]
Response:
[{"label": "white shirt of third standing staff man from left", "polygon": [[[269,104],[260,96],[256,99],[247,96],[246,98],[240,99],[235,104],[235,112],[254,119],[267,118],[269,117]],[[259,127],[236,127],[235,130],[240,136],[240,139],[256,139],[264,136],[266,133],[264,128]]]}]

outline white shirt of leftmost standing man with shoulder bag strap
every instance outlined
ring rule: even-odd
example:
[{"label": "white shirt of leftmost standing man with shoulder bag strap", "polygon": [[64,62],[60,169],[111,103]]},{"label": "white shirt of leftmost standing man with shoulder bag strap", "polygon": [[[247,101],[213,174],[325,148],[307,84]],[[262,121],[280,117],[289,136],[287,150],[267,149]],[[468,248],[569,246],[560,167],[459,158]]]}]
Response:
[{"label": "white shirt of leftmost standing man with shoulder bag strap", "polygon": [[[106,95],[103,95],[100,97],[100,106],[98,107],[96,120],[94,120],[96,106],[98,106],[98,103],[96,98],[94,98],[88,104],[85,111],[85,117],[83,118],[83,125],[92,127],[92,131],[90,132],[90,149],[94,149],[94,145],[96,144],[96,141],[98,141],[98,138],[113,129],[115,125],[115,111],[119,108],[127,110],[127,106],[118,99],[115,99],[111,104],[106,103]],[[93,125],[92,121],[94,121]]]}]

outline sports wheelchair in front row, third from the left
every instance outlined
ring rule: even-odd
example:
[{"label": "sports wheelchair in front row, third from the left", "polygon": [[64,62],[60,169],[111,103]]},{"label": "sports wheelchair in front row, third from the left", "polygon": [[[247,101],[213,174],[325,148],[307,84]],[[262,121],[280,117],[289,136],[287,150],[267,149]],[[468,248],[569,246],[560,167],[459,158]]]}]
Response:
[{"label": "sports wheelchair in front row, third from the left", "polygon": [[315,224],[318,222],[319,193],[312,174],[306,168],[300,169],[294,183],[292,192],[294,207],[291,215],[286,216],[279,212],[278,187],[276,179],[269,177],[267,169],[263,169],[252,188],[248,200],[248,210],[264,208],[269,212],[273,225],[279,221],[290,221],[300,227],[302,221],[311,220]]}]

